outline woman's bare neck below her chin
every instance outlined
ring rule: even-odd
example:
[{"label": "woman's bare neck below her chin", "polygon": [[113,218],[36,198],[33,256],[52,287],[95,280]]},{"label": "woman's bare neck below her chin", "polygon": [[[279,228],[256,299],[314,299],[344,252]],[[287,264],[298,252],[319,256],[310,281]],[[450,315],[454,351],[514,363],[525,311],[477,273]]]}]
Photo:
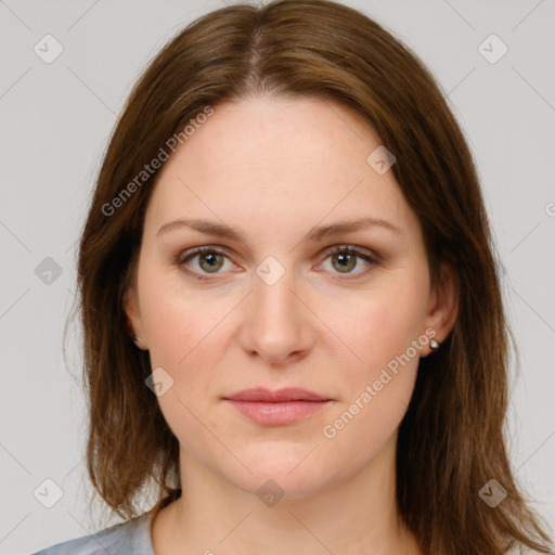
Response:
[{"label": "woman's bare neck below her chin", "polygon": [[398,518],[395,440],[359,474],[302,499],[285,494],[271,506],[182,450],[183,494],[153,524],[155,552],[418,555]]}]

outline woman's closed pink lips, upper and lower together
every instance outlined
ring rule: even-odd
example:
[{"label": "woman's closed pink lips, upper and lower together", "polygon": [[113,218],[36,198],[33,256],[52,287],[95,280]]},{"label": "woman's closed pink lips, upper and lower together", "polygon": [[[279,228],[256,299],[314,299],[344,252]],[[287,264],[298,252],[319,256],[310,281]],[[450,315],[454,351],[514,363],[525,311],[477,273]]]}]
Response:
[{"label": "woman's closed pink lips, upper and lower together", "polygon": [[274,391],[266,388],[245,389],[223,400],[263,426],[294,424],[318,413],[333,401],[313,391],[292,387]]}]

